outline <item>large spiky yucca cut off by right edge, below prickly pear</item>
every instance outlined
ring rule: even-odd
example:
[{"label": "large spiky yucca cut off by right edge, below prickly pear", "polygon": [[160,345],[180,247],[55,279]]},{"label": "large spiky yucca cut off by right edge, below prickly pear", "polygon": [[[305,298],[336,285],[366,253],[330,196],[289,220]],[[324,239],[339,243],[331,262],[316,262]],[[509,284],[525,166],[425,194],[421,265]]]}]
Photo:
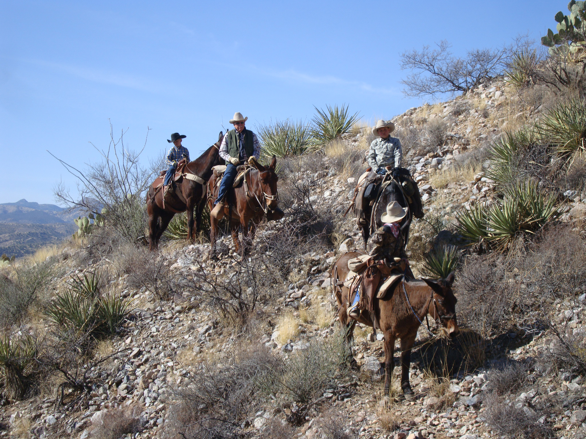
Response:
[{"label": "large spiky yucca cut off by right edge, below prickly pear", "polygon": [[586,103],[574,98],[550,109],[538,125],[540,135],[571,160],[586,152]]}]

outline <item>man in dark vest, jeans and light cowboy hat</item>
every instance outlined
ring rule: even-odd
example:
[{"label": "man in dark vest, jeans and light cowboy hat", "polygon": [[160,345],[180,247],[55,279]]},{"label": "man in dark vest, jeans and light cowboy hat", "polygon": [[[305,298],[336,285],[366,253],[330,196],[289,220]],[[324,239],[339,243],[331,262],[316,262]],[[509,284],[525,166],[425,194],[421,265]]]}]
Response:
[{"label": "man in dark vest, jeans and light cowboy hat", "polygon": [[236,178],[236,166],[247,160],[248,162],[258,160],[260,157],[260,142],[258,142],[255,133],[244,126],[247,120],[248,117],[245,118],[240,112],[234,113],[234,118],[230,119],[230,124],[234,125],[234,129],[227,132],[222,139],[220,157],[226,160],[226,170],[222,177],[222,183],[220,183],[216,207],[211,212],[214,218],[223,212],[224,198]]}]

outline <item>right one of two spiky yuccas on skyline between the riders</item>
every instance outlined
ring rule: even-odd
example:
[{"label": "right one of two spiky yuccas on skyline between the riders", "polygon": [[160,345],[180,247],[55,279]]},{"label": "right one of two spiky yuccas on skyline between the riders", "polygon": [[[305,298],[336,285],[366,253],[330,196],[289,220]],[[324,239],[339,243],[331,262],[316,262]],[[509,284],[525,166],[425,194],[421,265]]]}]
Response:
[{"label": "right one of two spiky yuccas on skyline between the riders", "polygon": [[326,105],[325,110],[314,108],[318,114],[312,119],[311,138],[312,143],[320,147],[332,140],[343,138],[359,119],[358,112],[349,114],[347,105],[342,105],[341,108],[338,105]]}]

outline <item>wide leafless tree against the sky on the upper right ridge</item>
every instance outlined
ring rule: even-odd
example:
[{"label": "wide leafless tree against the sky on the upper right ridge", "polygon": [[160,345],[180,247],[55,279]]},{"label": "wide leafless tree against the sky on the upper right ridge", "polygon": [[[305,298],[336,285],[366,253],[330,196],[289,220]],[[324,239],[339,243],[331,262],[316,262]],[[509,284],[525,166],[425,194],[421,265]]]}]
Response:
[{"label": "wide leafless tree against the sky on the upper right ridge", "polygon": [[401,70],[413,73],[401,81],[407,96],[435,97],[444,93],[465,93],[484,81],[498,76],[505,68],[510,48],[470,50],[466,57],[455,57],[447,41],[436,43],[437,49],[424,46],[420,51],[401,54]]}]

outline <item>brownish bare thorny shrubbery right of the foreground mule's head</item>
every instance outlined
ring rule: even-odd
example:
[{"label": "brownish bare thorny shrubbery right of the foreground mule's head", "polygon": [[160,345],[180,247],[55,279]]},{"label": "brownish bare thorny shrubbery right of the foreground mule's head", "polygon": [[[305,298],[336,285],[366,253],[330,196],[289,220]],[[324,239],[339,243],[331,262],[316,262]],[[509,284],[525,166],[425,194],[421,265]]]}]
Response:
[{"label": "brownish bare thorny shrubbery right of the foreground mule's head", "polygon": [[552,226],[516,254],[466,257],[455,284],[458,317],[488,337],[533,324],[548,301],[574,297],[585,286],[586,243],[571,226]]}]

